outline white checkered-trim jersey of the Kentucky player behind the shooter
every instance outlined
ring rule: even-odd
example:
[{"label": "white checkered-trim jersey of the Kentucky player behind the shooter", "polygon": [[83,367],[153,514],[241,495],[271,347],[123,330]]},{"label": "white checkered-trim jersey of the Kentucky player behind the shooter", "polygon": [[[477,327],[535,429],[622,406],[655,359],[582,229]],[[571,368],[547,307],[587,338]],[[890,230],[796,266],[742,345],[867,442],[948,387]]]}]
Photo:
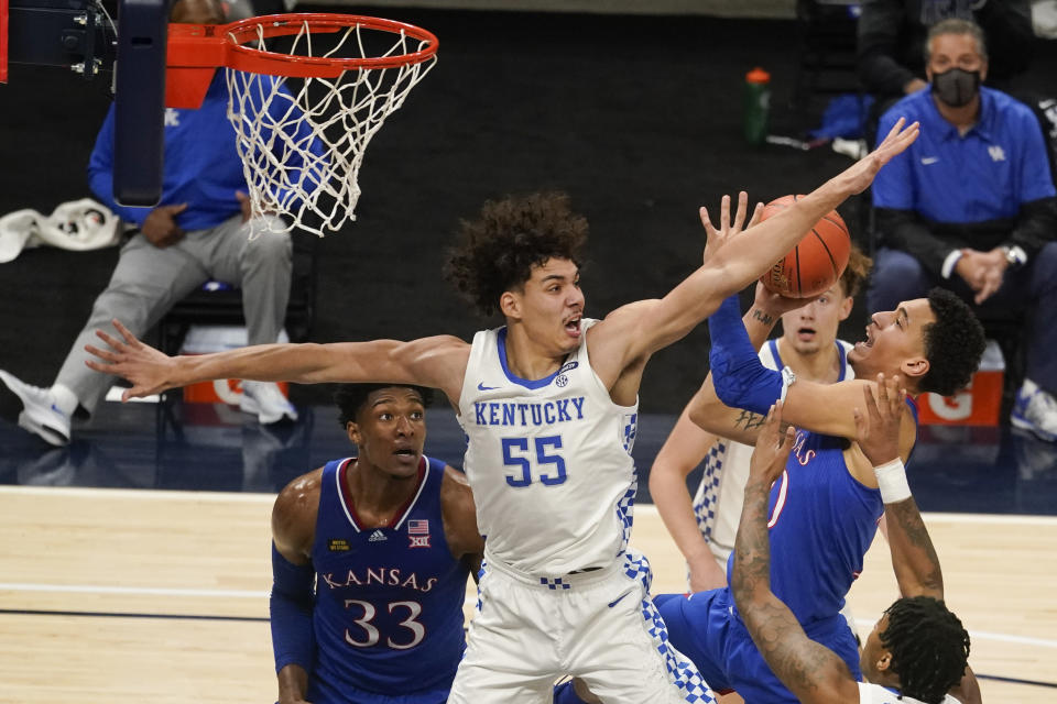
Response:
[{"label": "white checkered-trim jersey of the Kentucky player behind the shooter", "polygon": [[[767,340],[760,349],[760,361],[769,370],[781,370],[785,366],[782,355],[778,354],[777,342],[776,339]],[[848,363],[848,351],[852,345],[843,340],[837,340],[836,344],[837,354],[840,356],[840,375],[837,381],[854,378],[856,373]],[[705,474],[694,496],[697,526],[723,570],[727,569],[727,558],[734,549],[751,457],[752,446],[718,438],[705,455]]]}]

